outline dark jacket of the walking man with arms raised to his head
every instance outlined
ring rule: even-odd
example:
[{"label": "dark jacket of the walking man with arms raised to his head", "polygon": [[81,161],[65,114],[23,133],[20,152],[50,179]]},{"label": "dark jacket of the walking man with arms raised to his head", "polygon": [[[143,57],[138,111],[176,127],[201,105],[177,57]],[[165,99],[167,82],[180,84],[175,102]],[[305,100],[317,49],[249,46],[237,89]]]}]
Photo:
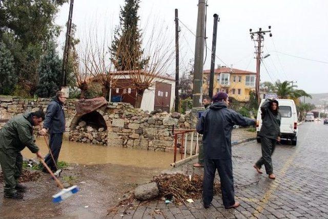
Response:
[{"label": "dark jacket of the walking man with arms raised to his head", "polygon": [[281,115],[278,112],[276,115],[271,111],[271,100],[266,99],[261,106],[262,127],[258,133],[261,137],[277,139],[280,136]]}]

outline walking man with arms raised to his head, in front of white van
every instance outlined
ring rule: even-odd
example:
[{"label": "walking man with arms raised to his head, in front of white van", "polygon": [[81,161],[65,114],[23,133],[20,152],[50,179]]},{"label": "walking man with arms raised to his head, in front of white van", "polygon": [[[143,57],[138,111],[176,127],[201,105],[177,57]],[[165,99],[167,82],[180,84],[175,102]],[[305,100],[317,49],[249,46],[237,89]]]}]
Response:
[{"label": "walking man with arms raised to his head, in front of white van", "polygon": [[262,157],[256,162],[254,168],[258,173],[264,164],[265,171],[269,178],[274,180],[273,166],[271,156],[276,147],[276,141],[280,142],[280,122],[279,103],[276,99],[266,99],[261,106],[262,127],[259,132],[261,137]]}]

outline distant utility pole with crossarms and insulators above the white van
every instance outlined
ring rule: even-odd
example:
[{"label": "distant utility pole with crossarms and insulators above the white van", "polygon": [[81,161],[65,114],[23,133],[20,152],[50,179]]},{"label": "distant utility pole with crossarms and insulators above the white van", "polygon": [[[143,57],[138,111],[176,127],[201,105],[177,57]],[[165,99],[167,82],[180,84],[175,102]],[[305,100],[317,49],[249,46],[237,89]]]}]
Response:
[{"label": "distant utility pole with crossarms and insulators above the white van", "polygon": [[[259,31],[252,32],[252,29],[250,29],[251,39],[254,42],[257,42],[256,48],[256,81],[255,81],[255,92],[257,97],[258,104],[260,103],[260,65],[261,65],[261,53],[262,53],[262,42],[264,41],[264,34],[270,33],[270,37],[272,36],[271,33],[271,26],[269,26],[269,30],[262,30],[262,28],[259,28]],[[254,39],[254,35],[257,35],[257,38]]]}]

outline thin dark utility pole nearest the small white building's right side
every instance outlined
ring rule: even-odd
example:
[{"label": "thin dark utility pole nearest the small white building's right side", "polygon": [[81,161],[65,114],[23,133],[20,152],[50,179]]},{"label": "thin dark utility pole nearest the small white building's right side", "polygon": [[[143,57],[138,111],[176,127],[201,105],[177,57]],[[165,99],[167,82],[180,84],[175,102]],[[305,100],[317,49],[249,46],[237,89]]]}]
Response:
[{"label": "thin dark utility pole nearest the small white building's right side", "polygon": [[175,105],[174,111],[179,111],[179,18],[178,9],[175,9]]}]

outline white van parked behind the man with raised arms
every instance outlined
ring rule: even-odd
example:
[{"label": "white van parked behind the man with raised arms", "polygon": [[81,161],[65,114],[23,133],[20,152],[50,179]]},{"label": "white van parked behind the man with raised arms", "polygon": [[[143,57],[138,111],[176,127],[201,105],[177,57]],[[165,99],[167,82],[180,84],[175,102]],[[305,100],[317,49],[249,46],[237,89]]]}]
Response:
[{"label": "white van parked behind the man with raised arms", "polygon": [[[260,137],[258,133],[262,127],[262,119],[261,119],[261,106],[265,99],[262,99],[261,104],[258,108],[257,119],[256,119],[256,140],[260,143]],[[281,138],[290,139],[292,141],[292,145],[296,145],[297,143],[297,122],[298,115],[296,111],[296,106],[293,99],[277,99],[279,103],[279,112],[281,115],[281,124],[280,124],[280,132]]]}]

